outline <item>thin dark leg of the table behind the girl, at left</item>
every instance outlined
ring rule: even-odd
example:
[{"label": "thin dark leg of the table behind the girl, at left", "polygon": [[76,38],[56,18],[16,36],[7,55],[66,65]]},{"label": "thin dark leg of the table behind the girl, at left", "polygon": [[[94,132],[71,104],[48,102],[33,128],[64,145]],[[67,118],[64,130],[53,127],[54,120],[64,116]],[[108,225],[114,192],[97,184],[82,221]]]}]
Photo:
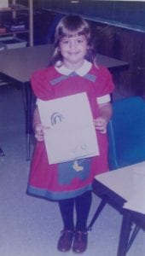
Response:
[{"label": "thin dark leg of the table behind the girl, at left", "polygon": [[30,160],[32,133],[32,89],[30,83],[22,84],[23,101],[26,113],[26,160]]}]

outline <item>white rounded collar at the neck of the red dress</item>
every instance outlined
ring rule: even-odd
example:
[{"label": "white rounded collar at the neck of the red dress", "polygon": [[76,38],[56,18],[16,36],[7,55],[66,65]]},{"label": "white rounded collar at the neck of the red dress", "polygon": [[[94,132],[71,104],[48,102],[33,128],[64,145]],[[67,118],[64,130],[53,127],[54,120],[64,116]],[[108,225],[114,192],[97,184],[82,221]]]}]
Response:
[{"label": "white rounded collar at the neck of the red dress", "polygon": [[[83,65],[79,67],[77,70],[75,70],[75,73],[83,77],[85,74],[87,74],[90,71],[91,67],[92,67],[92,63],[90,61],[84,60]],[[73,73],[71,69],[65,67],[63,64],[61,65],[61,67],[55,66],[55,69],[58,71],[58,73],[61,73],[63,75],[69,75],[70,73]]]}]

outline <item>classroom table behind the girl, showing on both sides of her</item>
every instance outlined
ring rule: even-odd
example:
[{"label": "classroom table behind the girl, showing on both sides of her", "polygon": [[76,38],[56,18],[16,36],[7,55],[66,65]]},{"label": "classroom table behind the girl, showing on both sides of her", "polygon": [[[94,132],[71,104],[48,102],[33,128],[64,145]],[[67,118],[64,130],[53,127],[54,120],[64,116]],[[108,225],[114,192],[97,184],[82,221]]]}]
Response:
[{"label": "classroom table behind the girl, showing on both sides of her", "polygon": [[[26,159],[30,160],[31,135],[31,103],[32,90],[30,86],[31,74],[49,65],[50,56],[54,52],[53,44],[43,44],[19,49],[3,49],[0,51],[0,73],[6,78],[20,82],[23,89],[26,111]],[[104,65],[111,72],[124,70],[129,63],[110,58],[106,55],[96,55],[98,64]]]}]

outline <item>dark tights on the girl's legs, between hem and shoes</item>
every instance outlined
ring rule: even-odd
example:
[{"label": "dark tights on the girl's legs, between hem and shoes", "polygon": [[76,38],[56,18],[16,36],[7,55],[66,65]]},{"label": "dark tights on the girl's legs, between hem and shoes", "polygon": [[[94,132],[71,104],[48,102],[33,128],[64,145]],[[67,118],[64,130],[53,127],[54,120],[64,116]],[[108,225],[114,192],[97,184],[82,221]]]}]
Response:
[{"label": "dark tights on the girl's legs, between hem and shoes", "polygon": [[[83,195],[79,195],[76,198],[59,201],[64,230],[86,231],[90,205],[91,191],[87,191]],[[76,225],[74,225],[73,219],[74,206],[76,209]]]}]

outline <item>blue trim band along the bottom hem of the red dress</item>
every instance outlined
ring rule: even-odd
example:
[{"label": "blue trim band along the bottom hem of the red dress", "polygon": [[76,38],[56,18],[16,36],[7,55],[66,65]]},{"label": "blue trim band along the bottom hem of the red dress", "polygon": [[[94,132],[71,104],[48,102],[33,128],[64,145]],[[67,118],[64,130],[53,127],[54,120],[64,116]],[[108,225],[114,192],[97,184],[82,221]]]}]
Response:
[{"label": "blue trim band along the bottom hem of the red dress", "polygon": [[42,197],[44,199],[52,200],[52,201],[57,201],[57,200],[63,200],[63,199],[68,199],[68,198],[74,198],[78,195],[84,194],[84,192],[92,190],[92,185],[89,184],[85,186],[82,189],[77,189],[73,191],[52,191],[50,192],[47,189],[38,189],[32,186],[28,186],[26,193],[29,195],[34,195],[38,197]]}]

